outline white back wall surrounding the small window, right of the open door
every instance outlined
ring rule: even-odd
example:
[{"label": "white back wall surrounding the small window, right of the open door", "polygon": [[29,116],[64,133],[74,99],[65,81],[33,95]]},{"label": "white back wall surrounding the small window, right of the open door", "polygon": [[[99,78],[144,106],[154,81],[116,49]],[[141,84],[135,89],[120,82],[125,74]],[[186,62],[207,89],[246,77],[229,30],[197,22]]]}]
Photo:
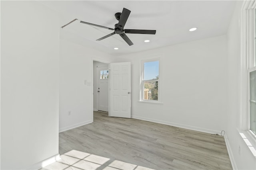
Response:
[{"label": "white back wall surrounding the small window, right of the open door", "polygon": [[[198,131],[226,130],[226,36],[122,56],[132,62],[132,117]],[[162,102],[139,102],[140,59],[162,56]]]}]

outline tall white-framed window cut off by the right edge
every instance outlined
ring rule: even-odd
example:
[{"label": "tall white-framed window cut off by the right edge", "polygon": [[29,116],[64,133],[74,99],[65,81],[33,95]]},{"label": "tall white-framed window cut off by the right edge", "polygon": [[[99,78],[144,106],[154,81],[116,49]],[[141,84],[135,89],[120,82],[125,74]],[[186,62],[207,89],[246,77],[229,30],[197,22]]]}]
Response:
[{"label": "tall white-framed window cut off by the right edge", "polygon": [[244,2],[242,13],[242,74],[240,129],[256,140],[256,3]]}]

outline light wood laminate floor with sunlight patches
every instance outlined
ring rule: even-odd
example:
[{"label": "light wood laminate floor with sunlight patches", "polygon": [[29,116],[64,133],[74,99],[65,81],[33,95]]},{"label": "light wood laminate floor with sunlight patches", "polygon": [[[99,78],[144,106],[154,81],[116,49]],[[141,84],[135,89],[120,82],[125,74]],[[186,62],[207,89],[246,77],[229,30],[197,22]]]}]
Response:
[{"label": "light wood laminate floor with sunlight patches", "polygon": [[42,170],[232,169],[224,138],[94,112],[94,122],[59,134],[62,160]]}]

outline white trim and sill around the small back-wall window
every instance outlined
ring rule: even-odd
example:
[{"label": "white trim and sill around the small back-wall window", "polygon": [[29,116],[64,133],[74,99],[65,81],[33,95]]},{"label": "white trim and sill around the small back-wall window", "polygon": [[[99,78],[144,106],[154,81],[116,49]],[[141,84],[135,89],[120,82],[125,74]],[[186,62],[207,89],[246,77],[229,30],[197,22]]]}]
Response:
[{"label": "white trim and sill around the small back-wall window", "polygon": [[[158,75],[158,100],[144,100],[144,87],[143,87],[143,73],[144,73],[144,62],[159,61],[159,75]],[[138,102],[156,103],[163,104],[162,102],[162,56],[154,55],[146,57],[140,60],[140,100]]]}]

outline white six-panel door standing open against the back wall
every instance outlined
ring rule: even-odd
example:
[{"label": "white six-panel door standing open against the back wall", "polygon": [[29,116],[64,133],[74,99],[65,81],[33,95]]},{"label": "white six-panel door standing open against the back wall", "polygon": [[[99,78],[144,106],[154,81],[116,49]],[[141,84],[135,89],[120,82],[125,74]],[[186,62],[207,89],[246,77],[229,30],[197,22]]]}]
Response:
[{"label": "white six-panel door standing open against the back wall", "polygon": [[131,118],[131,63],[110,63],[110,113]]}]

